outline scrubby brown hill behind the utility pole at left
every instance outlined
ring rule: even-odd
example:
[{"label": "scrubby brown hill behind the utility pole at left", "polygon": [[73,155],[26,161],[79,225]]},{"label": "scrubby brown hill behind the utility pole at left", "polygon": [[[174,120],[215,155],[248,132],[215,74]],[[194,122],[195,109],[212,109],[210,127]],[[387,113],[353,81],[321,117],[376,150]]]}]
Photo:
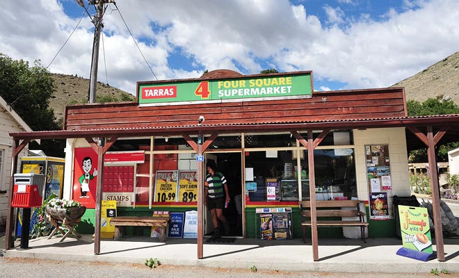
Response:
[{"label": "scrubby brown hill behind the utility pole at left", "polygon": [[[57,119],[63,118],[65,106],[88,103],[89,79],[67,74],[51,74],[51,76],[57,88],[54,98],[49,100],[49,105],[54,109]],[[128,92],[100,82],[97,82],[96,97],[97,99],[102,97],[106,102],[124,101],[123,99],[135,101],[136,99]]]}]

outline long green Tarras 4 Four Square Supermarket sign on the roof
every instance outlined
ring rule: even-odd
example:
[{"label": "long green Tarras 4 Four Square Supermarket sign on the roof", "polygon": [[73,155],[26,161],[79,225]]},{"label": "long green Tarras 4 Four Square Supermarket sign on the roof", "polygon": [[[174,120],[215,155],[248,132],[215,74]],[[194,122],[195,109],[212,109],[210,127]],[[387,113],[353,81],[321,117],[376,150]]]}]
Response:
[{"label": "long green Tarras 4 Four Square Supermarket sign on the roof", "polygon": [[242,76],[230,79],[182,79],[138,83],[138,104],[260,100],[311,97],[310,72]]}]

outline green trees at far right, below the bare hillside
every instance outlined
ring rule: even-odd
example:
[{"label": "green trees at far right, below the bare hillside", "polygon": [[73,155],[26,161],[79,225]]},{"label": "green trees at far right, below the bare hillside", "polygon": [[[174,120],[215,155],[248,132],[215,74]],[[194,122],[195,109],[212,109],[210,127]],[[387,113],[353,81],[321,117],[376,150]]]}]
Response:
[{"label": "green trees at far right, below the bare hillside", "polygon": [[[423,103],[415,100],[409,100],[407,101],[406,106],[409,116],[459,114],[459,106],[455,104],[454,101],[442,100],[441,98],[430,98]],[[437,151],[437,161],[448,161],[448,152],[456,147],[459,147],[459,142],[435,147]],[[426,162],[427,149],[417,149],[411,151],[408,161],[410,163]]]}]

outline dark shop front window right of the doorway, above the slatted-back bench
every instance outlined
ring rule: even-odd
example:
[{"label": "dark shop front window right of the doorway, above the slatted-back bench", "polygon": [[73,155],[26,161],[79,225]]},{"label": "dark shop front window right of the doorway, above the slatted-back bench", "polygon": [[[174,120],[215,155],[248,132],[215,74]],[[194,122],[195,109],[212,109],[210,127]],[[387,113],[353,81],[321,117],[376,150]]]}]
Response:
[{"label": "dark shop front window right of the doorway, above the slatted-back bench", "polygon": [[[316,199],[357,197],[352,148],[316,149],[314,165]],[[245,152],[245,188],[249,202],[310,199],[307,152],[300,151],[300,165],[295,149]]]}]

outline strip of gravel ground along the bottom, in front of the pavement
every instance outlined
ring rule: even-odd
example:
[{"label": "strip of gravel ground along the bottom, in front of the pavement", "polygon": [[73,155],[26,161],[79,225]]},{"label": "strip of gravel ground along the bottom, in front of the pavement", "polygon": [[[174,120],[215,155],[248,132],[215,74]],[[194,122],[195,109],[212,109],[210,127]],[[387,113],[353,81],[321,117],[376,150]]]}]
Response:
[{"label": "strip of gravel ground along the bottom, in front of the pavement", "polygon": [[[389,267],[389,266],[388,266]],[[400,273],[330,273],[330,272],[287,272],[275,270],[258,270],[252,272],[250,269],[240,268],[207,268],[207,267],[190,267],[177,265],[159,265],[157,268],[148,268],[146,265],[120,264],[120,263],[86,263],[86,262],[67,262],[67,261],[44,261],[40,259],[17,259],[17,258],[0,258],[0,277],[159,277],[159,278],[177,278],[177,277],[328,277],[328,278],[398,278],[398,277],[458,277],[455,274],[443,274],[439,270],[439,275],[431,273],[422,274],[400,274]]]}]

